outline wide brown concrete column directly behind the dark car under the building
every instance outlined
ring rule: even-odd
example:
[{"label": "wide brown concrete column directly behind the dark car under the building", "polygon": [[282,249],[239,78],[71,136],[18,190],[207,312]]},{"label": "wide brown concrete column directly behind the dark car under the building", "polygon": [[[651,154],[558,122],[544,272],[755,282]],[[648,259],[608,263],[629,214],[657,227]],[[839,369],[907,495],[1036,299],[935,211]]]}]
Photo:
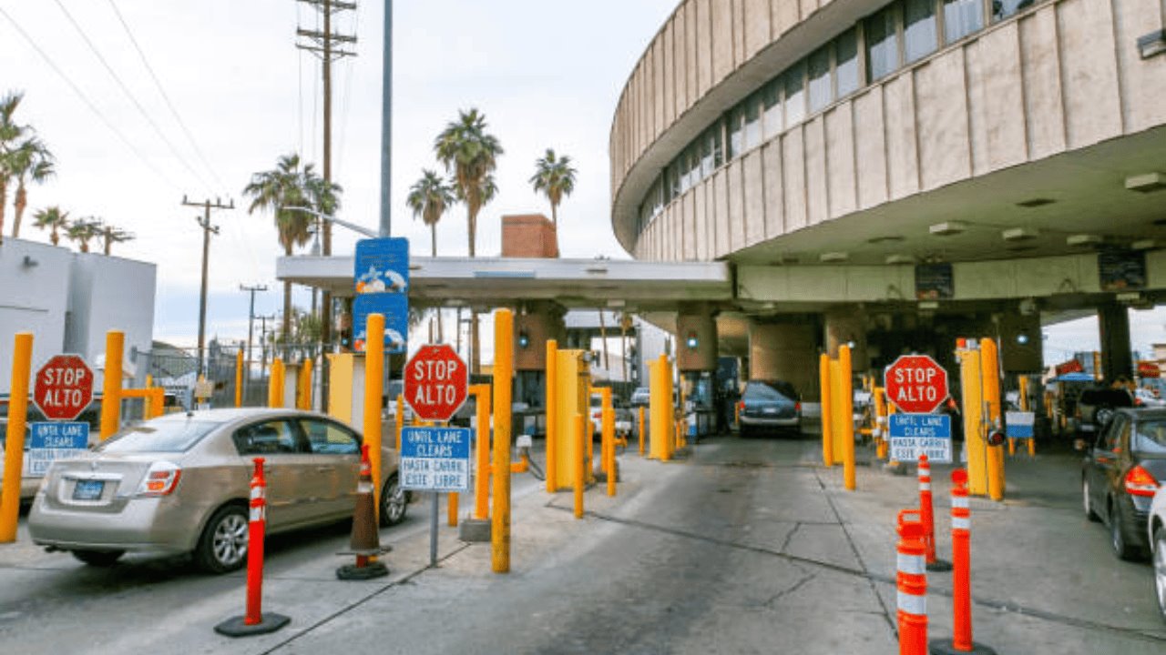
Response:
[{"label": "wide brown concrete column directly behind the dark car under the building", "polygon": [[749,376],[784,380],[802,400],[819,402],[817,339],[813,321],[754,323],[749,331]]}]

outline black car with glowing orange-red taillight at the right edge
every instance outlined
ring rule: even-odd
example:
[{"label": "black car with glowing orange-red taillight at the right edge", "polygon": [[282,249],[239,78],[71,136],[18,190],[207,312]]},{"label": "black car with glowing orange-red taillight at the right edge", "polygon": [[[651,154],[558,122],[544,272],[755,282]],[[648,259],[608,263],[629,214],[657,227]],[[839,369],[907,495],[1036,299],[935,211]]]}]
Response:
[{"label": "black car with glowing orange-red taillight at the right edge", "polygon": [[1159,480],[1166,480],[1166,409],[1117,409],[1096,442],[1083,448],[1086,516],[1104,521],[1118,557],[1145,557],[1150,503]]}]

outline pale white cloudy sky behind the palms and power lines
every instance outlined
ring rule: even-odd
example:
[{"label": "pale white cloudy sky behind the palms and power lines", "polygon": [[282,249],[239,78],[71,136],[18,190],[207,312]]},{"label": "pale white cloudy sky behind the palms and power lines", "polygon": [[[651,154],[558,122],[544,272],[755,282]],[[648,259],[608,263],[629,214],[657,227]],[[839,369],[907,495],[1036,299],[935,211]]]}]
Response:
[{"label": "pale white cloudy sky behind the palms and power lines", "polygon": [[[375,227],[384,6],[358,3],[354,14],[340,14],[337,26],[358,36],[359,56],[335,68],[333,167],[345,188],[340,216]],[[634,62],[675,3],[396,2],[394,235],[412,238],[414,252],[429,252],[428,231],[405,209],[406,190],[423,167],[436,165],[434,136],[458,110],[478,107],[506,149],[498,170],[500,196],[479,218],[478,252],[498,252],[503,213],[547,211],[527,179],[534,160],[554,147],[571,155],[580,171],[575,196],[561,207],[563,254],[626,256],[610,230],[611,114]],[[117,246],[115,254],[157,263],[156,338],[192,344],[201,234],[196,210],[181,206],[182,197],[233,198],[241,206],[240,191],[250,175],[272,168],[279,155],[300,152],[308,161],[319,161],[319,65],[294,47],[296,27],[316,28],[316,13],[295,0],[3,0],[0,9],[0,93],[24,92],[17,120],[34,125],[57,156],[57,177],[30,190],[29,214],[58,204],[75,217],[98,216],[136,234],[136,240]],[[197,152],[115,9],[194,135]],[[279,309],[275,231],[271,217],[248,216],[243,209],[218,212],[213,220],[222,235],[211,248],[209,332],[244,338],[247,297],[240,283],[271,287],[257,300],[258,314]],[[28,223],[26,217],[23,237],[47,240]],[[350,251],[354,238],[337,231],[335,251]],[[440,252],[464,254],[465,241],[464,210],[456,207],[438,228]],[[303,296],[298,302],[307,304]],[[1131,318],[1135,348],[1166,341],[1161,311],[1133,312]],[[1051,361],[1097,344],[1094,319],[1047,328],[1045,333]]]}]

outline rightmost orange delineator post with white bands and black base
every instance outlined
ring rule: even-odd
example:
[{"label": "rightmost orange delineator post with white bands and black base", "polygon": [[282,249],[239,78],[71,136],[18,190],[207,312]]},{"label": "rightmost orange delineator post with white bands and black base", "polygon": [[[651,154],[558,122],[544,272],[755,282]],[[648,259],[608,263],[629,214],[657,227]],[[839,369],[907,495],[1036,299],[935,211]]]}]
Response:
[{"label": "rightmost orange delineator post with white bands and black base", "polygon": [[968,501],[968,472],[951,471],[951,639],[936,639],[932,655],[996,655],[991,648],[971,640],[971,507]]}]

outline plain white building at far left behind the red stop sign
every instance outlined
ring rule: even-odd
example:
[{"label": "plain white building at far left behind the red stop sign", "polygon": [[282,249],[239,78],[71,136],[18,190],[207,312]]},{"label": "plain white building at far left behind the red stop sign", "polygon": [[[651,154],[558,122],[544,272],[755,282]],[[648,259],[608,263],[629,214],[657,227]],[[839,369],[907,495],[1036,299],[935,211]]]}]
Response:
[{"label": "plain white building at far left behind the red stop sign", "polygon": [[[153,263],[99,253],[5,239],[0,246],[0,395],[12,385],[16,332],[33,332],[33,369],[59,353],[76,353],[97,374],[105,360],[105,333],[126,333],[127,373],[133,353],[148,352],[154,336]],[[145,369],[136,378],[140,385]],[[97,387],[100,389],[100,387]]]}]

